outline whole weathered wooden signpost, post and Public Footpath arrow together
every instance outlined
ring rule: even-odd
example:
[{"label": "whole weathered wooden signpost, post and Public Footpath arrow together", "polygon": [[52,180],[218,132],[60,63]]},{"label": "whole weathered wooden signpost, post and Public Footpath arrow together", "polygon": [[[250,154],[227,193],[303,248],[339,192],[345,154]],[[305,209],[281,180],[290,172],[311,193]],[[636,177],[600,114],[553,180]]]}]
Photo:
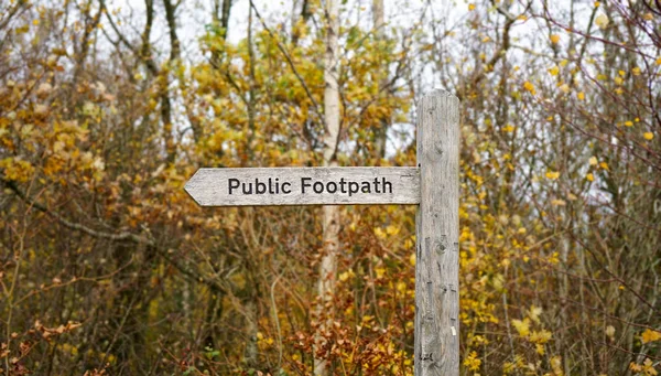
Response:
[{"label": "whole weathered wooden signpost, post and Public Footpath arrow together", "polygon": [[413,168],[199,169],[202,206],[416,204],[415,375],[459,374],[459,100],[418,104]]}]

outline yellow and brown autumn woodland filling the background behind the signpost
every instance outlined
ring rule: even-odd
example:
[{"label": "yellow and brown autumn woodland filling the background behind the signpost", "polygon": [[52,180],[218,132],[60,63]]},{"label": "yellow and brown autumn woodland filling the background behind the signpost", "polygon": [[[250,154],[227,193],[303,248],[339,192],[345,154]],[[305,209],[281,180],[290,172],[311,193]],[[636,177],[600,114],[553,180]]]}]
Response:
[{"label": "yellow and brown autumn woodland filling the background behind the signpost", "polygon": [[[243,2],[0,3],[0,374],[413,374],[415,207],[343,206],[318,297],[319,207],[183,191],[323,163],[324,1]],[[661,369],[659,7],[342,3],[339,165],[462,100],[463,375]]]}]

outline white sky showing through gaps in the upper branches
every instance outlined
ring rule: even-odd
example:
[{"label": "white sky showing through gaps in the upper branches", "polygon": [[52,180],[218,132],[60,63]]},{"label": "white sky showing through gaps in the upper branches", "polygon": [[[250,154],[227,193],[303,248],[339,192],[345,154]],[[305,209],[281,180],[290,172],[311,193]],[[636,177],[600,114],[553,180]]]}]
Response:
[{"label": "white sky showing through gaps in the upper branches", "polygon": [[[284,26],[289,28],[293,1],[296,0],[256,0],[256,6],[262,17],[266,19],[269,28],[275,29],[279,26],[279,23],[283,22],[285,23]],[[297,2],[300,1],[301,0],[297,0]],[[347,25],[359,24],[365,29],[371,28],[371,2],[372,0],[348,0],[346,4],[342,6],[343,23]],[[152,32],[152,40],[154,41],[156,50],[159,50],[160,46],[162,53],[166,53],[169,46],[169,35],[164,21],[163,6],[159,0],[156,0],[155,3],[156,23]],[[449,74],[446,72],[445,76],[451,76],[452,79],[452,72],[454,72],[454,69],[466,71],[472,68],[472,66],[457,63],[462,60],[462,57],[474,53],[473,50],[469,49],[472,49],[475,44],[462,43],[462,41],[467,39],[481,39],[481,35],[476,35],[477,32],[473,31],[470,28],[467,28],[466,23],[473,18],[477,17],[487,17],[498,20],[500,26],[505,21],[505,18],[500,14],[497,14],[497,12],[492,9],[488,12],[484,12],[484,9],[480,9],[479,12],[469,12],[468,4],[469,2],[466,0],[384,0],[386,23],[392,26],[410,29],[415,24],[415,22],[419,21],[421,10],[425,7],[429,7],[426,10],[427,13],[425,14],[425,22],[421,25],[422,28],[426,29],[426,32],[430,32],[432,28],[437,28],[441,31],[456,30],[457,36],[448,40],[448,42],[446,42],[447,44],[444,45],[444,49],[446,50],[444,53],[446,53],[448,56],[452,56],[454,60],[454,63],[445,65],[446,68],[449,69]],[[199,39],[206,33],[205,25],[210,23],[212,7],[213,0],[182,0],[182,4],[180,6],[177,14],[177,20],[180,22],[177,33],[182,42],[182,56],[187,58],[188,63],[191,64],[198,63],[204,58],[201,55]],[[484,6],[479,4],[479,7]],[[589,14],[592,7],[592,2],[585,4],[579,3],[576,6],[576,21],[579,29],[586,28],[588,21],[588,17],[586,15]],[[132,37],[139,37],[144,22],[144,2],[142,0],[109,0],[108,9],[110,11],[119,10],[116,17],[117,19],[124,20],[124,22],[132,22]],[[511,7],[511,12],[514,15],[518,15],[516,12],[520,11],[522,7],[517,0],[514,0],[513,6]],[[232,4],[228,41],[237,43],[246,37],[248,28],[248,10],[249,0],[236,0]],[[567,12],[567,2],[551,2],[551,11],[554,13],[554,15],[563,18],[561,14],[563,12]],[[300,10],[296,10],[296,13],[299,12]],[[430,20],[434,20],[434,23],[432,24]],[[258,29],[261,29],[261,25],[259,25],[257,19],[254,19],[253,22]],[[123,28],[127,26],[124,25]],[[548,43],[549,35],[545,28],[545,24],[541,24],[540,21],[532,19],[517,21],[514,28],[512,28],[511,35],[514,47],[508,52],[508,60],[510,62],[516,61],[521,65],[521,74],[523,74],[527,62],[530,61],[531,56],[527,53],[523,53],[520,47],[532,47],[532,50],[541,51],[539,47],[534,46],[539,43]],[[484,30],[484,28],[478,29]],[[495,32],[496,30],[492,31],[492,34],[495,34]],[[561,35],[560,43],[567,43],[567,35],[562,32],[562,30],[557,30],[557,33]],[[495,35],[490,36],[494,37]],[[490,55],[495,45],[492,42],[490,44],[486,42],[484,45],[485,54]],[[566,56],[560,56],[557,62],[565,57]],[[544,61],[548,61],[549,67],[557,63],[554,62],[551,55],[539,56],[537,58],[543,58]],[[534,65],[539,68],[540,64],[534,63]],[[422,75],[420,76],[421,82],[418,83],[422,90],[426,92],[438,86],[440,74],[438,72],[435,72],[436,66],[433,64],[426,64],[424,66],[419,66],[418,69],[422,72]],[[550,77],[545,77],[545,75],[535,76],[542,77],[542,79],[550,79]],[[413,121],[413,119],[411,119],[411,121]],[[404,136],[405,140],[397,141],[401,135]],[[394,125],[392,127],[392,135],[389,136],[391,141],[397,141],[394,143],[389,142],[388,144],[388,154],[392,154],[395,149],[405,147],[408,142],[412,141],[412,125]]]}]

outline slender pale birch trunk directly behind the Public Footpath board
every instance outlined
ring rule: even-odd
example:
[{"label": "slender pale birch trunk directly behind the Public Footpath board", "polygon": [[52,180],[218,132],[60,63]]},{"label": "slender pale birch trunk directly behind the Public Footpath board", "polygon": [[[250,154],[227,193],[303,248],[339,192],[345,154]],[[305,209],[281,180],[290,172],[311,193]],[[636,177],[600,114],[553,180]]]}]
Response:
[{"label": "slender pale birch trunk directly behind the Public Footpath board", "polygon": [[[324,165],[337,165],[337,141],[339,136],[339,88],[338,77],[338,33],[339,33],[339,3],[337,0],[326,1],[326,53],[324,55],[324,122],[326,133],[324,135]],[[339,248],[339,210],[337,206],[324,206],[324,256],[319,266],[318,293],[322,298],[322,307],[330,300],[335,289],[335,273],[337,271],[337,251]],[[329,304],[328,304],[329,305]],[[325,331],[322,324],[319,332]],[[317,335],[316,345],[323,346],[324,339]],[[327,364],[325,359],[314,359],[314,374],[326,375]]]}]

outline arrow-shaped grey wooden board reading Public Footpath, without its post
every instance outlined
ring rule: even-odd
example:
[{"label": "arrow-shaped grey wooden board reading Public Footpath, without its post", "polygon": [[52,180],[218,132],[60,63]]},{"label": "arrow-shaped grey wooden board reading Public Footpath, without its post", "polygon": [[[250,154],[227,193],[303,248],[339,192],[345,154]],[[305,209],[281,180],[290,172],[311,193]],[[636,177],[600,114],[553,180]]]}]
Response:
[{"label": "arrow-shaped grey wooden board reading Public Footpath, without its post", "polygon": [[[302,179],[310,179],[303,193]],[[243,194],[242,185],[232,189],[229,194],[229,180],[251,183],[252,193]],[[257,193],[256,179],[268,184],[271,179],[272,192],[275,191],[275,179],[280,184],[279,193]],[[342,192],[340,181],[344,179]],[[375,186],[375,179],[379,182]],[[392,186],[381,187],[387,181]],[[288,182],[283,193],[283,183]],[[314,183],[324,185],[323,193],[315,193]],[[330,193],[335,182],[337,191]],[[359,192],[349,190],[348,182],[359,182]],[[362,182],[370,183],[370,193],[362,190]],[[236,181],[232,182],[236,185]],[[318,187],[319,185],[316,185]],[[420,175],[418,168],[271,168],[271,169],[199,169],[188,180],[186,192],[202,206],[261,206],[261,205],[348,205],[348,204],[418,204],[420,203]],[[263,186],[260,185],[263,190]],[[260,190],[260,192],[261,192]],[[381,193],[378,193],[380,191]],[[248,192],[248,191],[246,191]]]}]

